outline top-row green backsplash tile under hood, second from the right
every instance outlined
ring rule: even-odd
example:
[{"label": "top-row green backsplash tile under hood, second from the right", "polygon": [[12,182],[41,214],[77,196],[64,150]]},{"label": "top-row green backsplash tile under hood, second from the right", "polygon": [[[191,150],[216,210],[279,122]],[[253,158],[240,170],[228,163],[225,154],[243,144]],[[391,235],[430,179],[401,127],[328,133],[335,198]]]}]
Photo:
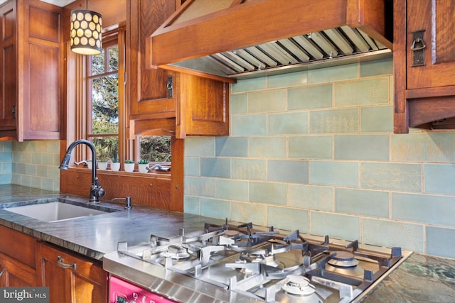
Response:
[{"label": "top-row green backsplash tile under hood, second from the right", "polygon": [[333,82],[358,78],[358,64],[339,65],[336,67],[310,70],[309,79],[311,84]]}]

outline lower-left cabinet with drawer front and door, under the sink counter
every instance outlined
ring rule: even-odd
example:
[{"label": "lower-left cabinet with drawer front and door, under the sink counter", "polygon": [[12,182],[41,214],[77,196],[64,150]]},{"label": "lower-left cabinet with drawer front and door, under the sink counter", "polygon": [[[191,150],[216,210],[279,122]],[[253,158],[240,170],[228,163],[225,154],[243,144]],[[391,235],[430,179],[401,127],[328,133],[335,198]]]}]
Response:
[{"label": "lower-left cabinet with drawer front and door, under the sink counter", "polygon": [[0,226],[0,287],[41,285],[36,270],[35,238]]}]

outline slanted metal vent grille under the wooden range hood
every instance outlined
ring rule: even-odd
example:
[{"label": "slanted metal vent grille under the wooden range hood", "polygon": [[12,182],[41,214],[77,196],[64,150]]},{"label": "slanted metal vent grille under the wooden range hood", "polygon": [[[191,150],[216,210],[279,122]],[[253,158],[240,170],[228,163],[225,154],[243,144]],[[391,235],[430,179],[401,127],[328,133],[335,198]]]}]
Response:
[{"label": "slanted metal vent grille under the wooden range hood", "polygon": [[171,65],[198,70],[221,77],[260,75],[264,72],[289,72],[289,69],[316,67],[315,63],[334,65],[361,60],[392,57],[384,45],[357,28],[342,26],[326,31],[230,50]]}]

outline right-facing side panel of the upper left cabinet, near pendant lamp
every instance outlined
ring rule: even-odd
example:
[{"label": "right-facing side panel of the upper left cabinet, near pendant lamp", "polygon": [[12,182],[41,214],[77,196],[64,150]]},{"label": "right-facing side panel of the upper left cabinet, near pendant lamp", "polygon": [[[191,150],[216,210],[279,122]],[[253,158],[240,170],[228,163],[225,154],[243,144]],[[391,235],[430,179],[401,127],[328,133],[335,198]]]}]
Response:
[{"label": "right-facing side panel of the upper left cabinet, near pendant lamp", "polygon": [[[23,139],[60,139],[63,92],[63,35],[60,31],[63,9],[42,1],[25,1],[18,31],[18,55],[23,91],[18,111],[18,141]],[[21,104],[21,102],[19,102]]]}]

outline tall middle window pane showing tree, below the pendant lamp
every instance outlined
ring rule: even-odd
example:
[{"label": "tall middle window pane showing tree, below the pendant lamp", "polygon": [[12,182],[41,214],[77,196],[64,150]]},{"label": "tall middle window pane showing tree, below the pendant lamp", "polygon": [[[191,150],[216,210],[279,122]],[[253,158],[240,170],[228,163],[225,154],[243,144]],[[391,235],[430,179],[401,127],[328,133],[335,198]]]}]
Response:
[{"label": "tall middle window pane showing tree, below the pendant lamp", "polygon": [[92,79],[92,133],[118,133],[118,75]]}]

